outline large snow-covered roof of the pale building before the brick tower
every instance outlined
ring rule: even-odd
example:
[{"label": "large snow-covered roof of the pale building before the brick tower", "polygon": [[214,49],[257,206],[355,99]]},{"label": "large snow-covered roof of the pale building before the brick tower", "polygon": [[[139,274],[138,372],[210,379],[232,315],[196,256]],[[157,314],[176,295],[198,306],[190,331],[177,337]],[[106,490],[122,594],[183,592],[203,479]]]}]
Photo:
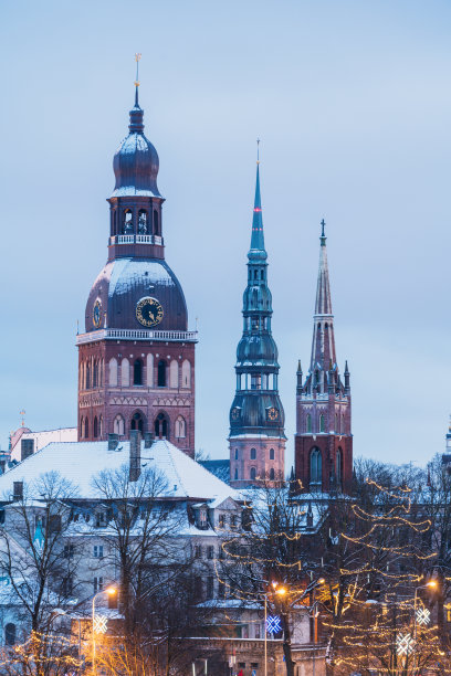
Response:
[{"label": "large snow-covered roof of the pale building before the brick tower", "polygon": [[[108,451],[108,442],[51,443],[0,476],[0,496],[12,495],[13,482],[31,484],[41,474],[57,472],[78,488],[83,499],[99,497],[93,478],[104,469],[118,469],[129,463],[129,442],[119,442]],[[165,475],[167,497],[197,498],[213,505],[231,497],[240,500],[238,490],[191,460],[174,444],[156,441],[150,448],[141,444],[141,467],[151,464]]]}]

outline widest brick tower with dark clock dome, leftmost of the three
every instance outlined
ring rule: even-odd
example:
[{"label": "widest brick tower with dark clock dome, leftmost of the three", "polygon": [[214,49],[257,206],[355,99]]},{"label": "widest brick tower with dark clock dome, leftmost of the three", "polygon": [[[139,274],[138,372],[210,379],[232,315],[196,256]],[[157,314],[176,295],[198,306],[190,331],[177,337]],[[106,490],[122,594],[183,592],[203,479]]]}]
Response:
[{"label": "widest brick tower with dark clock dome, leftmost of the three", "polygon": [[195,453],[195,344],[180,283],[165,261],[158,155],[136,84],[114,156],[108,260],[91,289],[78,346],[78,440],[130,430]]}]

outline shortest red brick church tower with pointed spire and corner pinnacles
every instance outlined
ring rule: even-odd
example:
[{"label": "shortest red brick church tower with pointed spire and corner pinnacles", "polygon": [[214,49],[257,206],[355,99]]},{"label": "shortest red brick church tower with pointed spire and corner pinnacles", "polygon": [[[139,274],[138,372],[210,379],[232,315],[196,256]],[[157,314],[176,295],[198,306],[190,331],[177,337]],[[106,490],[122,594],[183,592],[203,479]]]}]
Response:
[{"label": "shortest red brick church tower with pointed spire and corner pinnacles", "polygon": [[303,490],[347,493],[353,477],[349,371],[346,362],[343,382],[335,353],[324,226],[322,221],[312,358],[304,383],[301,362],[297,368],[295,476]]}]

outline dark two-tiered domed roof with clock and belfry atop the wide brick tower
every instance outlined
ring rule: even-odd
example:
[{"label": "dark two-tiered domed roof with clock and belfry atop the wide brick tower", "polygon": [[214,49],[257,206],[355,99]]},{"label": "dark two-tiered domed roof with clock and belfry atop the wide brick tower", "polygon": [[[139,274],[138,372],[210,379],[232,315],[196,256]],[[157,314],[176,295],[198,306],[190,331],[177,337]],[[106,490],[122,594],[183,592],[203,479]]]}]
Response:
[{"label": "dark two-tiered domed roof with clock and belfry atop the wide brick tower", "polygon": [[138,85],[136,82],[128,136],[114,156],[108,261],[87,298],[87,334],[98,329],[188,330],[185,295],[165,261],[159,160],[144,135]]}]

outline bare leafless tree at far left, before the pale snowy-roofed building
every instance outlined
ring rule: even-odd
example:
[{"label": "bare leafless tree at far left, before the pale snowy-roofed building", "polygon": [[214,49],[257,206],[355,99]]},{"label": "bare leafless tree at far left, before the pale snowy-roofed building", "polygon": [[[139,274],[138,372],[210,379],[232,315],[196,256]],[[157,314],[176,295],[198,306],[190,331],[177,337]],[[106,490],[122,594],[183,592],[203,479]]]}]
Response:
[{"label": "bare leafless tree at far left, before the pale snowy-roofed building", "polygon": [[[0,574],[7,582],[2,603],[20,623],[22,644],[12,648],[25,674],[60,673],[63,655],[71,653],[53,635],[55,609],[74,593],[78,563],[71,542],[71,500],[77,489],[55,472],[30,484],[17,483],[3,503],[0,526]],[[67,653],[67,654],[69,654]],[[56,670],[55,670],[56,669]]]}]

